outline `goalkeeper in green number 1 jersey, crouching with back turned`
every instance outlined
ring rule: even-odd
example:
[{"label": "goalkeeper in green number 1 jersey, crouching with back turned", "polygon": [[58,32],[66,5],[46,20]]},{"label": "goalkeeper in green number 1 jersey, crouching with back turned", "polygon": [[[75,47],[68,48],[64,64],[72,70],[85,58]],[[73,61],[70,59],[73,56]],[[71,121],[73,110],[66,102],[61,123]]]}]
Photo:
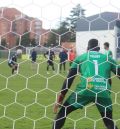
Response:
[{"label": "goalkeeper in green number 1 jersey, crouching with back turned", "polygon": [[[88,52],[78,56],[72,63],[54,106],[54,112],[57,113],[59,106],[63,105],[57,113],[52,129],[61,129],[68,114],[91,102],[95,103],[106,128],[118,129],[112,118],[111,85],[108,79],[111,77],[111,71],[119,77],[120,68],[111,57],[107,60],[106,55],[99,53],[99,49],[98,40],[91,39],[88,42]],[[80,83],[62,104],[78,72],[81,74]]]}]

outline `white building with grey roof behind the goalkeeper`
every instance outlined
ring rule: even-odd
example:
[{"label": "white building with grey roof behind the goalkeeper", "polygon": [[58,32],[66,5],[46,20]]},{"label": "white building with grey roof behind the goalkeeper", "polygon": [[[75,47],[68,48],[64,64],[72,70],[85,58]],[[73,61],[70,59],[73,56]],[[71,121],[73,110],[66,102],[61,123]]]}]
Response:
[{"label": "white building with grey roof behind the goalkeeper", "polygon": [[119,13],[103,12],[87,18],[81,18],[77,22],[76,27],[76,51],[80,55],[87,51],[88,41],[92,38],[99,40],[101,52],[104,52],[104,42],[110,43],[110,49],[113,52],[113,57],[117,58],[120,55],[117,46],[120,46],[120,20]]}]

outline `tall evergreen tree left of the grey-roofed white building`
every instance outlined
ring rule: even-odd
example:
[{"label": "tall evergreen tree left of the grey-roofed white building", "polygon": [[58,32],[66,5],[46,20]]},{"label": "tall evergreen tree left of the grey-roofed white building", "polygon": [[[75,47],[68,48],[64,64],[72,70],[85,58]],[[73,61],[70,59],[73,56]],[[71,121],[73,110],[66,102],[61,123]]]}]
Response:
[{"label": "tall evergreen tree left of the grey-roofed white building", "polygon": [[[61,25],[58,28],[59,34],[64,34],[68,32],[69,29],[74,32],[76,29],[77,21],[81,17],[85,17],[85,9],[83,9],[81,5],[78,4],[71,10],[70,16],[61,22]],[[75,42],[75,38],[75,34],[67,33],[61,37],[61,42]]]}]

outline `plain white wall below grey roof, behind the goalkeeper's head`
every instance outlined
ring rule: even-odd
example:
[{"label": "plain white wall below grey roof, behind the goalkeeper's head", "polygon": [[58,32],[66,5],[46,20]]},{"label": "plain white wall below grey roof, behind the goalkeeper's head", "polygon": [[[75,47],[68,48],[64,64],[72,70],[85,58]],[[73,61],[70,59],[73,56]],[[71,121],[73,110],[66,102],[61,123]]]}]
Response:
[{"label": "plain white wall below grey roof, behind the goalkeeper's head", "polygon": [[116,38],[114,30],[104,31],[84,31],[76,33],[76,51],[77,55],[87,51],[88,41],[92,38],[99,40],[100,52],[104,53],[104,42],[110,43],[110,50],[113,52],[113,58],[116,58]]}]

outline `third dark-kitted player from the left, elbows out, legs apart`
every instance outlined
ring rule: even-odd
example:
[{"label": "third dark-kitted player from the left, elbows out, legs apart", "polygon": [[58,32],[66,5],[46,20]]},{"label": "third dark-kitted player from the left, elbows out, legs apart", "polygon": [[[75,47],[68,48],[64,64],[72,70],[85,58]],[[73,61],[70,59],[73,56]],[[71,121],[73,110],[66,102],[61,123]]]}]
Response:
[{"label": "third dark-kitted player from the left, elbows out, legs apart", "polygon": [[49,74],[49,67],[52,67],[53,72],[55,72],[55,68],[54,68],[54,63],[53,63],[53,59],[55,58],[55,53],[52,50],[47,51],[46,53],[44,53],[44,57],[48,58],[47,61],[47,74]]}]

